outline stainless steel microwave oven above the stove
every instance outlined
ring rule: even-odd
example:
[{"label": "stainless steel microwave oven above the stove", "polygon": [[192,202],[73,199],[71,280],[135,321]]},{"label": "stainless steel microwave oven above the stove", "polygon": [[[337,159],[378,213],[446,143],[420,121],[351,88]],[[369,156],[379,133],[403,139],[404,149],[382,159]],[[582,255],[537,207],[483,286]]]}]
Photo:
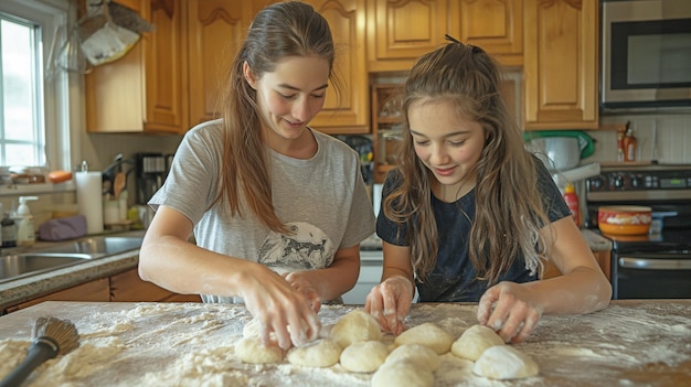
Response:
[{"label": "stainless steel microwave oven above the stove", "polygon": [[600,107],[690,107],[691,0],[600,4]]}]

